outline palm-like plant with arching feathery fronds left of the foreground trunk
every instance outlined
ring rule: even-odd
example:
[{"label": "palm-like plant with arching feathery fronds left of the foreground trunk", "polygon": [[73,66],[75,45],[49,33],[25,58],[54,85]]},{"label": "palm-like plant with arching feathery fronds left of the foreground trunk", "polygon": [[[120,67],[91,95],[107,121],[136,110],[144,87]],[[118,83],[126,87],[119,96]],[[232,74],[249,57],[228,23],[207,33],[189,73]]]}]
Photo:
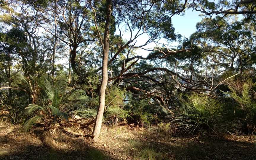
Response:
[{"label": "palm-like plant with arching feathery fronds left of the foreground trunk", "polygon": [[53,135],[62,129],[62,124],[68,123],[68,118],[79,115],[89,118],[96,115],[96,111],[87,108],[89,97],[82,90],[66,92],[61,86],[53,86],[46,78],[38,82],[40,88],[39,104],[30,104],[25,112],[30,118],[24,125],[29,131],[38,123],[44,126],[43,138],[45,142],[54,145]]}]

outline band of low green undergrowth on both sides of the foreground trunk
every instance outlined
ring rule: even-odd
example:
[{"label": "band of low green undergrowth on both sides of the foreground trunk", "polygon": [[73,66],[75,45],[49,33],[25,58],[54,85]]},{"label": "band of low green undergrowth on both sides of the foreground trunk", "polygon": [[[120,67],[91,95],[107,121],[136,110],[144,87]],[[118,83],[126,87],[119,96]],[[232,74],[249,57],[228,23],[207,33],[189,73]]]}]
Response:
[{"label": "band of low green undergrowth on both sides of the foreground trunk", "polygon": [[[24,124],[25,131],[39,124],[49,134],[54,134],[57,128],[67,123],[84,125],[78,121],[79,118],[92,120],[95,117],[97,96],[89,98],[83,89],[72,89],[62,80],[50,81],[47,76],[20,75],[19,85],[24,91],[14,91],[9,97],[7,92],[1,92],[1,119]],[[156,136],[159,133],[166,136],[253,133],[256,120],[255,84],[247,82],[240,88],[234,85],[229,85],[229,91],[223,92],[223,98],[192,93],[180,98],[177,107],[170,108],[156,104],[150,98],[140,99],[112,85],[106,91],[104,123],[112,126],[138,125],[148,128]],[[151,125],[158,127],[152,130]],[[83,128],[80,126],[80,129]]]}]

